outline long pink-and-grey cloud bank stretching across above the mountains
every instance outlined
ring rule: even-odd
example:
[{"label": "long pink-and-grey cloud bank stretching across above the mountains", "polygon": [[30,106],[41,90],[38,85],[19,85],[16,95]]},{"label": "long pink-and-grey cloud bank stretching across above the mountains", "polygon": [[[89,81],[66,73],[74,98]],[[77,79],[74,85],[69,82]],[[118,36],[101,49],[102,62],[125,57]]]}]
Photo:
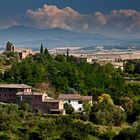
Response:
[{"label": "long pink-and-grey cloud bank stretching across above the mountains", "polygon": [[0,28],[14,25],[28,25],[37,28],[62,28],[74,31],[106,34],[140,34],[140,11],[112,10],[109,14],[97,11],[84,15],[70,7],[60,9],[45,4],[36,10],[27,10],[22,19],[0,22]]}]

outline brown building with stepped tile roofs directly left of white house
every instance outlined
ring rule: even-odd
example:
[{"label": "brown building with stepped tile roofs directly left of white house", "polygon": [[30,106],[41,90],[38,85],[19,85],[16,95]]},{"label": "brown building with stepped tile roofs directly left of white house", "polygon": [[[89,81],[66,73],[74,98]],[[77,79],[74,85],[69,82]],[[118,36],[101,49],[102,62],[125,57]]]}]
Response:
[{"label": "brown building with stepped tile roofs directly left of white house", "polygon": [[17,103],[29,103],[34,110],[42,113],[63,114],[64,102],[60,99],[53,99],[45,93],[32,92],[18,92]]}]

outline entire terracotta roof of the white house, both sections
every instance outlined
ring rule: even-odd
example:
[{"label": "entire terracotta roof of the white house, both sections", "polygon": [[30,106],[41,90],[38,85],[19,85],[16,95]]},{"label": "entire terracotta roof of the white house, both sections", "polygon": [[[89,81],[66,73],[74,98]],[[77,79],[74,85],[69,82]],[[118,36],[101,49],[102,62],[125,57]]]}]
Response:
[{"label": "entire terracotta roof of the white house, both sections", "polygon": [[59,99],[73,99],[73,100],[92,100],[92,96],[82,96],[80,94],[60,94]]}]

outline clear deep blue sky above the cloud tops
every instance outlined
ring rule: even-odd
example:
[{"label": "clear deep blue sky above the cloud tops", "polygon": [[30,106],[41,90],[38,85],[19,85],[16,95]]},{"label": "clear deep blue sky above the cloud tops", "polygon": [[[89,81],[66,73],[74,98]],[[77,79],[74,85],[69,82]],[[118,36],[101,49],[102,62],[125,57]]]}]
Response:
[{"label": "clear deep blue sky above the cloud tops", "polygon": [[80,13],[110,12],[113,9],[140,10],[140,0],[0,0],[0,17],[23,14],[44,4],[59,8],[69,6]]}]

